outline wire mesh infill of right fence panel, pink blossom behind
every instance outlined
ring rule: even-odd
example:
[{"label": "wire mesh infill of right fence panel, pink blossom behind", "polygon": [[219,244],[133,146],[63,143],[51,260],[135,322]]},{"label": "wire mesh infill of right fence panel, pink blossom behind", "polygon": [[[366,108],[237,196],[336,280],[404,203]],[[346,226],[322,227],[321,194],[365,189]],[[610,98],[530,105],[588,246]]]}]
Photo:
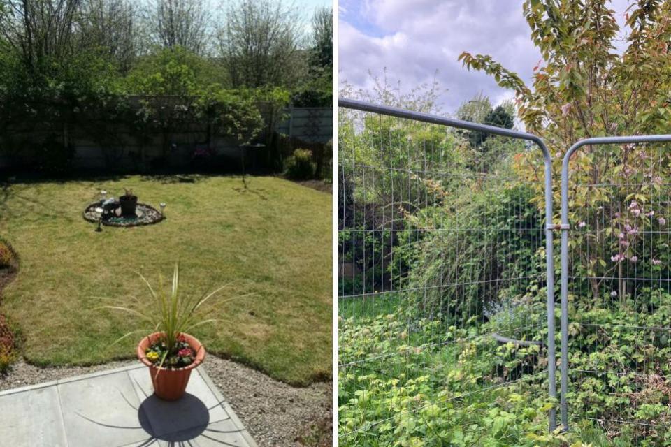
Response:
[{"label": "wire mesh infill of right fence panel, pink blossom behind", "polygon": [[669,145],[585,145],[568,168],[570,427],[669,445]]}]

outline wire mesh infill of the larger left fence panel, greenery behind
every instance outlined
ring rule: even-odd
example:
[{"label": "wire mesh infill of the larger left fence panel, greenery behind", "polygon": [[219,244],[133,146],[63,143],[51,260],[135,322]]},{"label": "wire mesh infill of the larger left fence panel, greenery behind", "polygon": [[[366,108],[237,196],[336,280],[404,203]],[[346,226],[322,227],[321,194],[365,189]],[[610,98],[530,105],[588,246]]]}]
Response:
[{"label": "wire mesh infill of the larger left fence panel, greenery behind", "polygon": [[543,159],[473,132],[340,108],[340,445],[547,430]]}]

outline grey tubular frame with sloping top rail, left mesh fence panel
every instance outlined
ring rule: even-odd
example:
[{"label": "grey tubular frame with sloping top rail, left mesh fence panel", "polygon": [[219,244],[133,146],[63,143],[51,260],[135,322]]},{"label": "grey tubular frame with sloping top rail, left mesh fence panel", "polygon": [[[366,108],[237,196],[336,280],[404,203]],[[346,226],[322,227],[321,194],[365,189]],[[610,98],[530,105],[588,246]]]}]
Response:
[{"label": "grey tubular frame with sloping top rail, left mesh fence panel", "polygon": [[[462,121],[461,119],[452,119],[431,115],[422,112],[412,112],[400,108],[389,107],[387,105],[376,105],[364,101],[356,101],[347,98],[338,98],[338,106],[361,110],[363,112],[372,112],[380,115],[389,115],[391,117],[413,119],[414,121],[426,122],[429,124],[438,124],[441,126],[456,127],[469,131],[481,131],[493,135],[501,135],[519,140],[531,141],[537,145],[542,154],[545,165],[545,251],[547,256],[547,352],[548,352],[548,392],[551,398],[556,399],[556,347],[555,347],[555,316],[554,316],[554,243],[552,231],[557,227],[552,224],[552,160],[550,153],[542,138],[531,133],[512,131],[486,124],[472,123]],[[553,407],[549,412],[549,430],[556,428],[556,409]]]}]

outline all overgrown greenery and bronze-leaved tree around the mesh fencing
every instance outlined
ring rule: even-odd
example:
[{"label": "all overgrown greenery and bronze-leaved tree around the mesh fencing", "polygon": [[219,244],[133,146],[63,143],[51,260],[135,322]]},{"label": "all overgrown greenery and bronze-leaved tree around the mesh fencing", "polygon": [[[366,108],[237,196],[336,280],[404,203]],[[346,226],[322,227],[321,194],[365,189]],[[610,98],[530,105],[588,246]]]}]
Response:
[{"label": "all overgrown greenery and bronze-leaved tree around the mesh fencing", "polygon": [[[669,133],[670,8],[635,2],[617,54],[607,1],[525,1],[542,53],[532,86],[489,56],[461,60],[516,92],[558,179],[580,138]],[[436,112],[433,87],[384,86],[366,98]],[[511,107],[479,97],[457,115],[507,127]],[[572,430],[548,434],[542,157],[475,133],[436,140],[398,119],[341,110],[340,123],[342,442],[669,445],[666,147],[592,146],[572,159]]]}]

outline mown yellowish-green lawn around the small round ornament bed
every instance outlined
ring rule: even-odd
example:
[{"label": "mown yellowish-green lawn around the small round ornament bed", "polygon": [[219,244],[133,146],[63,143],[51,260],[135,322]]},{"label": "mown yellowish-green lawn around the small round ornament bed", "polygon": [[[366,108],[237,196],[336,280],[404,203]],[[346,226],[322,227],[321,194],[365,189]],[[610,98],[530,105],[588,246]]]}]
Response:
[{"label": "mown yellowish-green lawn around the small round ornament bed", "polygon": [[[187,181],[184,181],[187,180]],[[180,259],[182,291],[231,283],[233,300],[194,335],[208,351],[276,379],[306,384],[331,376],[331,195],[275,177],[124,177],[27,182],[0,189],[0,234],[21,258],[1,309],[39,365],[130,358],[139,337],[127,314],[99,309],[96,296],[129,305],[147,297],[136,272],[157,282]],[[141,203],[166,202],[167,219],[136,228],[82,218],[99,191],[124,187]],[[148,297],[146,298],[148,300]]]}]

